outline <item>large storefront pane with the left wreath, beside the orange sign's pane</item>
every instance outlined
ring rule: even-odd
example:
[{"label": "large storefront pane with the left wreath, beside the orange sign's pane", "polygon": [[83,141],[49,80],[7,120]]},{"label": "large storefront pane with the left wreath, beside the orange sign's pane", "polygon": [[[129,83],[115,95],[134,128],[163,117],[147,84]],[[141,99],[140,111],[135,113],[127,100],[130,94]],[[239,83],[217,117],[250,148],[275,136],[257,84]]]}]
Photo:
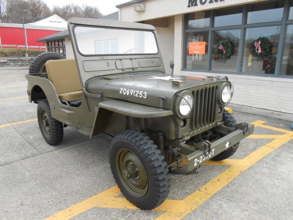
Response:
[{"label": "large storefront pane with the left wreath, beside the orange sign's pane", "polygon": [[240,29],[214,31],[212,40],[212,70],[237,71]]}]

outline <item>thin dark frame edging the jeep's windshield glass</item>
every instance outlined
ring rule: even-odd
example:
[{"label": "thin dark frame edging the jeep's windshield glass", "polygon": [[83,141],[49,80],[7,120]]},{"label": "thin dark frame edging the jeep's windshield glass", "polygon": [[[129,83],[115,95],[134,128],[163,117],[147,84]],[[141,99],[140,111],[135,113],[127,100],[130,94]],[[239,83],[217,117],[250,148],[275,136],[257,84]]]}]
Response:
[{"label": "thin dark frame edging the jeep's windshield glass", "polygon": [[[157,45],[157,53],[126,53],[126,54],[121,54],[121,53],[118,53],[118,54],[112,54],[112,53],[109,53],[109,54],[83,54],[80,52],[79,48],[78,48],[78,44],[77,44],[77,41],[76,41],[76,35],[75,35],[75,28],[76,27],[91,27],[91,28],[108,28],[108,29],[119,29],[119,30],[130,30],[130,31],[149,31],[149,32],[152,32],[154,34],[154,37],[155,37],[155,40],[156,40],[156,45]],[[156,36],[156,33],[155,31],[153,30],[145,30],[145,29],[135,29],[135,28],[117,28],[117,27],[110,27],[110,26],[92,26],[92,25],[80,25],[80,24],[75,24],[72,28],[72,33],[74,35],[74,43],[76,45],[76,50],[77,52],[81,55],[81,56],[84,56],[84,57],[97,57],[97,56],[129,56],[129,55],[158,55],[159,52],[160,52],[160,48],[159,48],[159,44],[158,44],[158,40],[157,40],[157,36]]]}]

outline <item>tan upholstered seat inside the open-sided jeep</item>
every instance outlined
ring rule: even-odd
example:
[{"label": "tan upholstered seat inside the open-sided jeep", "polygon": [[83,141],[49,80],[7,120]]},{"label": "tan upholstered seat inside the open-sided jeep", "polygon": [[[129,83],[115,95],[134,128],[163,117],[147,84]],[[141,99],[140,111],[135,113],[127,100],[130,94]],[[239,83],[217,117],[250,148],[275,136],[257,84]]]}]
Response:
[{"label": "tan upholstered seat inside the open-sided jeep", "polygon": [[53,83],[60,100],[82,99],[82,88],[74,59],[49,60],[46,62],[49,80]]}]

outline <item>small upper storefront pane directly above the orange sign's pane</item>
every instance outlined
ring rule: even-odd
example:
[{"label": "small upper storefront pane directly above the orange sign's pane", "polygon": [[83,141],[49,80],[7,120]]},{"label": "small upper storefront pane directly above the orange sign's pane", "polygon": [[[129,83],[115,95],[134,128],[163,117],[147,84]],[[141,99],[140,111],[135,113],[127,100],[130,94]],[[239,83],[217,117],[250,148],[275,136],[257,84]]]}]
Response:
[{"label": "small upper storefront pane directly above the orange sign's pane", "polygon": [[188,29],[208,28],[210,11],[200,11],[188,14]]}]

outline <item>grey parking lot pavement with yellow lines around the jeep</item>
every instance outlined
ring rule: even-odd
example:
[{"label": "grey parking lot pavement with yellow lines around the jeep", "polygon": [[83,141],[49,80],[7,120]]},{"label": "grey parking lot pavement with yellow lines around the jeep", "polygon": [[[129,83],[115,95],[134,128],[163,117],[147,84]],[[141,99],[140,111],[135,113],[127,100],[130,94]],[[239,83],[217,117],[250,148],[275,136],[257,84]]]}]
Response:
[{"label": "grey parking lot pavement with yellow lines around the jeep", "polygon": [[90,141],[67,127],[61,144],[44,141],[37,105],[26,96],[27,72],[0,69],[0,219],[292,219],[292,116],[234,110],[255,133],[230,159],[172,175],[168,199],[142,211],[115,185],[109,136]]}]

